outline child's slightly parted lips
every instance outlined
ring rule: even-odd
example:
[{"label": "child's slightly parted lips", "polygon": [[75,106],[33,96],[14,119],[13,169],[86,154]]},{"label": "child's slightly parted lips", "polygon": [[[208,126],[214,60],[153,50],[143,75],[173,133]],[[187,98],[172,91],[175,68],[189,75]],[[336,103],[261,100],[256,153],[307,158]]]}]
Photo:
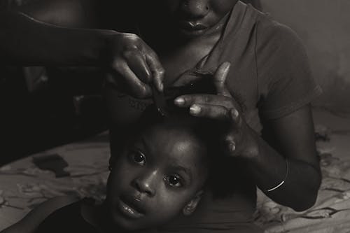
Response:
[{"label": "child's slightly parted lips", "polygon": [[137,203],[136,199],[121,198],[118,202],[118,209],[127,218],[137,219],[144,216],[143,208],[141,204]]}]

